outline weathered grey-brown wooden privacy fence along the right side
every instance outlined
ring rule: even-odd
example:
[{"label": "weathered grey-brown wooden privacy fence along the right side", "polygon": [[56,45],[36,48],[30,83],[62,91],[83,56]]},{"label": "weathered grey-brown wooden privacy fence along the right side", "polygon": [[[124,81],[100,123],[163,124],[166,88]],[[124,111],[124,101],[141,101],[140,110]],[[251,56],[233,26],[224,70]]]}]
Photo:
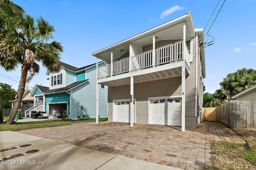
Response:
[{"label": "weathered grey-brown wooden privacy fence along the right side", "polygon": [[229,128],[256,128],[256,101],[229,101],[217,107],[217,120]]}]

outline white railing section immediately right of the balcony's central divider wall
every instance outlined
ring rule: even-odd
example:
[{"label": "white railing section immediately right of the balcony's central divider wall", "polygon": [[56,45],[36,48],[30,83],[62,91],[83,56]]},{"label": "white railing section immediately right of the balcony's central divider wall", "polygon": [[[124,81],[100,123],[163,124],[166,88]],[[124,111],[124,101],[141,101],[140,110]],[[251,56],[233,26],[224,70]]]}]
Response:
[{"label": "white railing section immediately right of the balcony's central divider wall", "polygon": [[135,55],[131,57],[131,71],[138,69],[145,69],[147,67],[153,66],[153,53],[152,51]]}]

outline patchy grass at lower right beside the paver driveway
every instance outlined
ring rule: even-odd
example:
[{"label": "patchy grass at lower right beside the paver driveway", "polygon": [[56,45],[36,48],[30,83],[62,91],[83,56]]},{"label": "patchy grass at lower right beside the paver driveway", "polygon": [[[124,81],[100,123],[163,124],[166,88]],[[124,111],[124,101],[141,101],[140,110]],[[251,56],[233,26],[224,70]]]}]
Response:
[{"label": "patchy grass at lower right beside the paver driveway", "polygon": [[236,129],[235,131],[249,143],[251,149],[245,149],[243,140],[235,142],[212,141],[211,150],[215,168],[255,169],[256,166],[252,163],[256,164],[256,130]]}]

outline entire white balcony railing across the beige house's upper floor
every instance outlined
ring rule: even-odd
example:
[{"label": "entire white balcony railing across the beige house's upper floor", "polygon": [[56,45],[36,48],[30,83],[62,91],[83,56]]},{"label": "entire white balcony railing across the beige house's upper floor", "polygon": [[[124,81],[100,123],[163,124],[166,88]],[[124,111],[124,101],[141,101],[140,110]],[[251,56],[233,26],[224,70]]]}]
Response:
[{"label": "entire white balcony railing across the beige house's upper floor", "polygon": [[[184,48],[184,49],[183,49]],[[137,72],[152,67],[162,66],[164,64],[177,63],[185,61],[189,67],[189,52],[188,47],[183,41],[171,45],[166,45],[161,48],[150,50],[148,52],[127,57],[122,60],[106,64],[98,68],[98,79],[113,77],[119,74],[129,72]]]}]

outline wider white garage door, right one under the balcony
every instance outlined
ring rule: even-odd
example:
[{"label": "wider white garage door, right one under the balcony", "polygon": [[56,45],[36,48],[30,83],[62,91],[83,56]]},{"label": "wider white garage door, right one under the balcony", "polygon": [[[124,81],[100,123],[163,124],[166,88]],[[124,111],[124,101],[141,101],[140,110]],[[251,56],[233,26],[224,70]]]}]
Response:
[{"label": "wider white garage door, right one under the balcony", "polygon": [[150,100],[150,124],[181,126],[180,98]]}]

